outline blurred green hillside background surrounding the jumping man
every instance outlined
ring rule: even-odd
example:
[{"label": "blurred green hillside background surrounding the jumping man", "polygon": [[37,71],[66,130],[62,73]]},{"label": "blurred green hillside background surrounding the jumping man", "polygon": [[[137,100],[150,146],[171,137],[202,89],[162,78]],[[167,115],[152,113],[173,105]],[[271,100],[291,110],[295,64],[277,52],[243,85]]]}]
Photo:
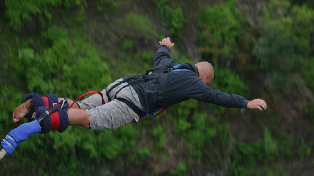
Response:
[{"label": "blurred green hillside background surrounding the jumping man", "polygon": [[[266,111],[189,100],[116,132],[34,134],[1,175],[312,175],[311,0],[0,0],[0,134],[29,92],[77,98],[171,59],[211,62],[210,85]],[[19,124],[27,122],[23,119]]]}]

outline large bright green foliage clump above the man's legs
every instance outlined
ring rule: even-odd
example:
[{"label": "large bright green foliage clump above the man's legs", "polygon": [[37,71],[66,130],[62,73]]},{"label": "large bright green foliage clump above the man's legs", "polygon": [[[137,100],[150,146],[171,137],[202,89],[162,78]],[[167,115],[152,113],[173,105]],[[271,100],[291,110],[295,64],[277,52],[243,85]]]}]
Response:
[{"label": "large bright green foliage clump above the man's legs", "polygon": [[[66,37],[66,31],[56,27],[49,28],[42,35],[47,42],[52,43],[52,47],[46,49],[43,56],[35,55],[30,48],[19,50],[18,59],[23,67],[19,66],[17,70],[21,77],[26,78],[28,84],[25,86],[29,91],[41,93],[54,91],[72,98],[81,92],[103,87],[110,82],[109,68],[101,61],[95,49],[81,45],[83,51],[86,51],[81,53],[76,41],[71,42]],[[28,67],[30,65],[33,67]],[[65,87],[68,89],[64,90]]]}]

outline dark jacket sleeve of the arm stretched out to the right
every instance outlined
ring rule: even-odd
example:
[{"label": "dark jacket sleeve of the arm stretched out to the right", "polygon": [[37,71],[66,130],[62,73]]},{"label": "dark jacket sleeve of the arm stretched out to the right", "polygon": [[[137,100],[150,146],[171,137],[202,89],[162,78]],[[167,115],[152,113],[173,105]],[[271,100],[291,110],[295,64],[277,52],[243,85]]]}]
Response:
[{"label": "dark jacket sleeve of the arm stretched out to the right", "polygon": [[247,108],[247,103],[249,102],[240,95],[214,90],[201,79],[196,80],[195,83],[192,84],[187,91],[186,96],[198,101],[212,103],[227,108]]}]

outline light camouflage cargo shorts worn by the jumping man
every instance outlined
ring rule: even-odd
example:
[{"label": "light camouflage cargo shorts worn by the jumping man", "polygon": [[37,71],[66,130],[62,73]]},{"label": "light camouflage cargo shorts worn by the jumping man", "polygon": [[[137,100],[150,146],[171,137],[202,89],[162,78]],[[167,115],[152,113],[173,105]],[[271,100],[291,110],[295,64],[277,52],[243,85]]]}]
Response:
[{"label": "light camouflage cargo shorts worn by the jumping man", "polygon": [[[123,79],[118,79],[111,83],[107,87],[107,90],[122,80]],[[121,89],[124,85],[127,85],[127,83],[118,85],[116,88],[110,91],[109,96],[113,97],[116,91]],[[77,102],[81,109],[88,112],[91,130],[113,129],[115,131],[119,127],[132,122],[133,119],[138,121],[139,116],[125,103],[117,99],[113,99],[111,102],[108,102],[106,89],[101,92],[103,93],[106,102],[104,105],[102,105],[102,98],[98,94],[92,95],[89,98],[82,100],[81,102]],[[117,94],[117,98],[126,99],[132,102],[139,109],[143,110],[138,95],[131,86],[123,88]]]}]

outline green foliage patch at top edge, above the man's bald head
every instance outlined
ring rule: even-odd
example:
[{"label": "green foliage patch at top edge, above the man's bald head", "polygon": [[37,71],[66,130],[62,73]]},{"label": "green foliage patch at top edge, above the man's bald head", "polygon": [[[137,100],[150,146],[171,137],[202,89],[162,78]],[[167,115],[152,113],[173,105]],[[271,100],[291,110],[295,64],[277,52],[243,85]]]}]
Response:
[{"label": "green foliage patch at top edge, above the man's bald head", "polygon": [[213,57],[214,64],[220,60],[230,62],[240,51],[239,42],[244,34],[245,20],[235,3],[228,0],[207,8],[198,19],[200,52],[205,57]]}]

